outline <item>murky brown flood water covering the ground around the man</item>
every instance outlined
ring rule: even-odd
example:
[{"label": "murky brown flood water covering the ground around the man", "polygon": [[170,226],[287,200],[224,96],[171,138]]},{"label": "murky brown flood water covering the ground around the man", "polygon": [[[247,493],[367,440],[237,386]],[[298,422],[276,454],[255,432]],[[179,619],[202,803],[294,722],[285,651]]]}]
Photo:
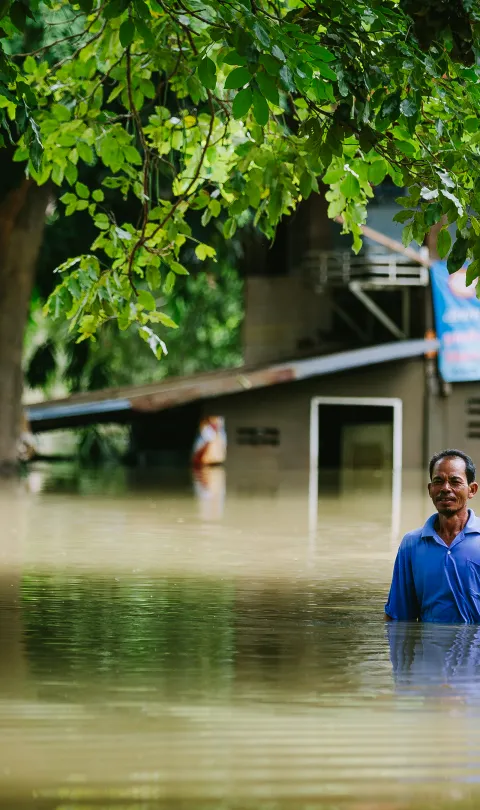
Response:
[{"label": "murky brown flood water covering the ground around the man", "polygon": [[480,628],[383,621],[400,486],[326,475],[315,525],[306,474],[2,485],[0,806],[478,807]]}]

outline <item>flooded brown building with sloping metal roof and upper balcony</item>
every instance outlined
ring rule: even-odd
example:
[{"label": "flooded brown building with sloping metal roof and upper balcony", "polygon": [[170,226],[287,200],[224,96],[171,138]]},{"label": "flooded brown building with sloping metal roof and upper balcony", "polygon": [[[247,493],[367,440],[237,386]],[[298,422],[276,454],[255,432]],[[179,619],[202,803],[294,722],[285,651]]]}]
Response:
[{"label": "flooded brown building with sloping metal roof and upper balcony", "polygon": [[447,445],[478,455],[480,387],[438,375],[430,261],[395,241],[398,193],[372,206],[358,256],[321,195],[273,248],[249,243],[244,368],[42,403],[33,429],[128,422],[137,462],[171,463],[189,459],[201,418],[221,415],[227,467],[257,471],[418,469]]}]

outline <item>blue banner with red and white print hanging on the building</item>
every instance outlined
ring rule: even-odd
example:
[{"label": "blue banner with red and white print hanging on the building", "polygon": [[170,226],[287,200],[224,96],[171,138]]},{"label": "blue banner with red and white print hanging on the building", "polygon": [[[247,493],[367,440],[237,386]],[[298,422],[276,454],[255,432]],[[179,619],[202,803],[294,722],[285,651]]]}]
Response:
[{"label": "blue banner with red and white print hanging on the building", "polygon": [[466,270],[449,275],[445,262],[430,271],[438,364],[445,382],[480,380],[480,301],[476,281],[466,286]]}]

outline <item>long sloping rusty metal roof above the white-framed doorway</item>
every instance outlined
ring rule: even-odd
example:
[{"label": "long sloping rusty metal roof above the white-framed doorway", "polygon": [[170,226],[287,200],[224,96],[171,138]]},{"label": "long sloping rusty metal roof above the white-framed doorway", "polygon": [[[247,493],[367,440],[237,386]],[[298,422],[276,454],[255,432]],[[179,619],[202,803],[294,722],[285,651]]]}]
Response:
[{"label": "long sloping rusty metal roof above the white-framed doorway", "polygon": [[227,369],[189,377],[170,377],[150,385],[75,394],[63,400],[30,405],[26,412],[33,430],[37,431],[106,421],[110,417],[111,421],[120,418],[125,421],[129,412],[151,413],[225,394],[421,357],[437,348],[437,340],[395,341],[262,368]]}]

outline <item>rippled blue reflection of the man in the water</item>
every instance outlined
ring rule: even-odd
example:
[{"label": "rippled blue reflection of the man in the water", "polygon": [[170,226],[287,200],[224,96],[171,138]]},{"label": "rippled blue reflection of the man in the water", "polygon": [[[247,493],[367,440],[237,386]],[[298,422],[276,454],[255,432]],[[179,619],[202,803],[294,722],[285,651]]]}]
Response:
[{"label": "rippled blue reflection of the man in the water", "polygon": [[398,692],[480,700],[480,626],[391,622],[386,631]]}]

